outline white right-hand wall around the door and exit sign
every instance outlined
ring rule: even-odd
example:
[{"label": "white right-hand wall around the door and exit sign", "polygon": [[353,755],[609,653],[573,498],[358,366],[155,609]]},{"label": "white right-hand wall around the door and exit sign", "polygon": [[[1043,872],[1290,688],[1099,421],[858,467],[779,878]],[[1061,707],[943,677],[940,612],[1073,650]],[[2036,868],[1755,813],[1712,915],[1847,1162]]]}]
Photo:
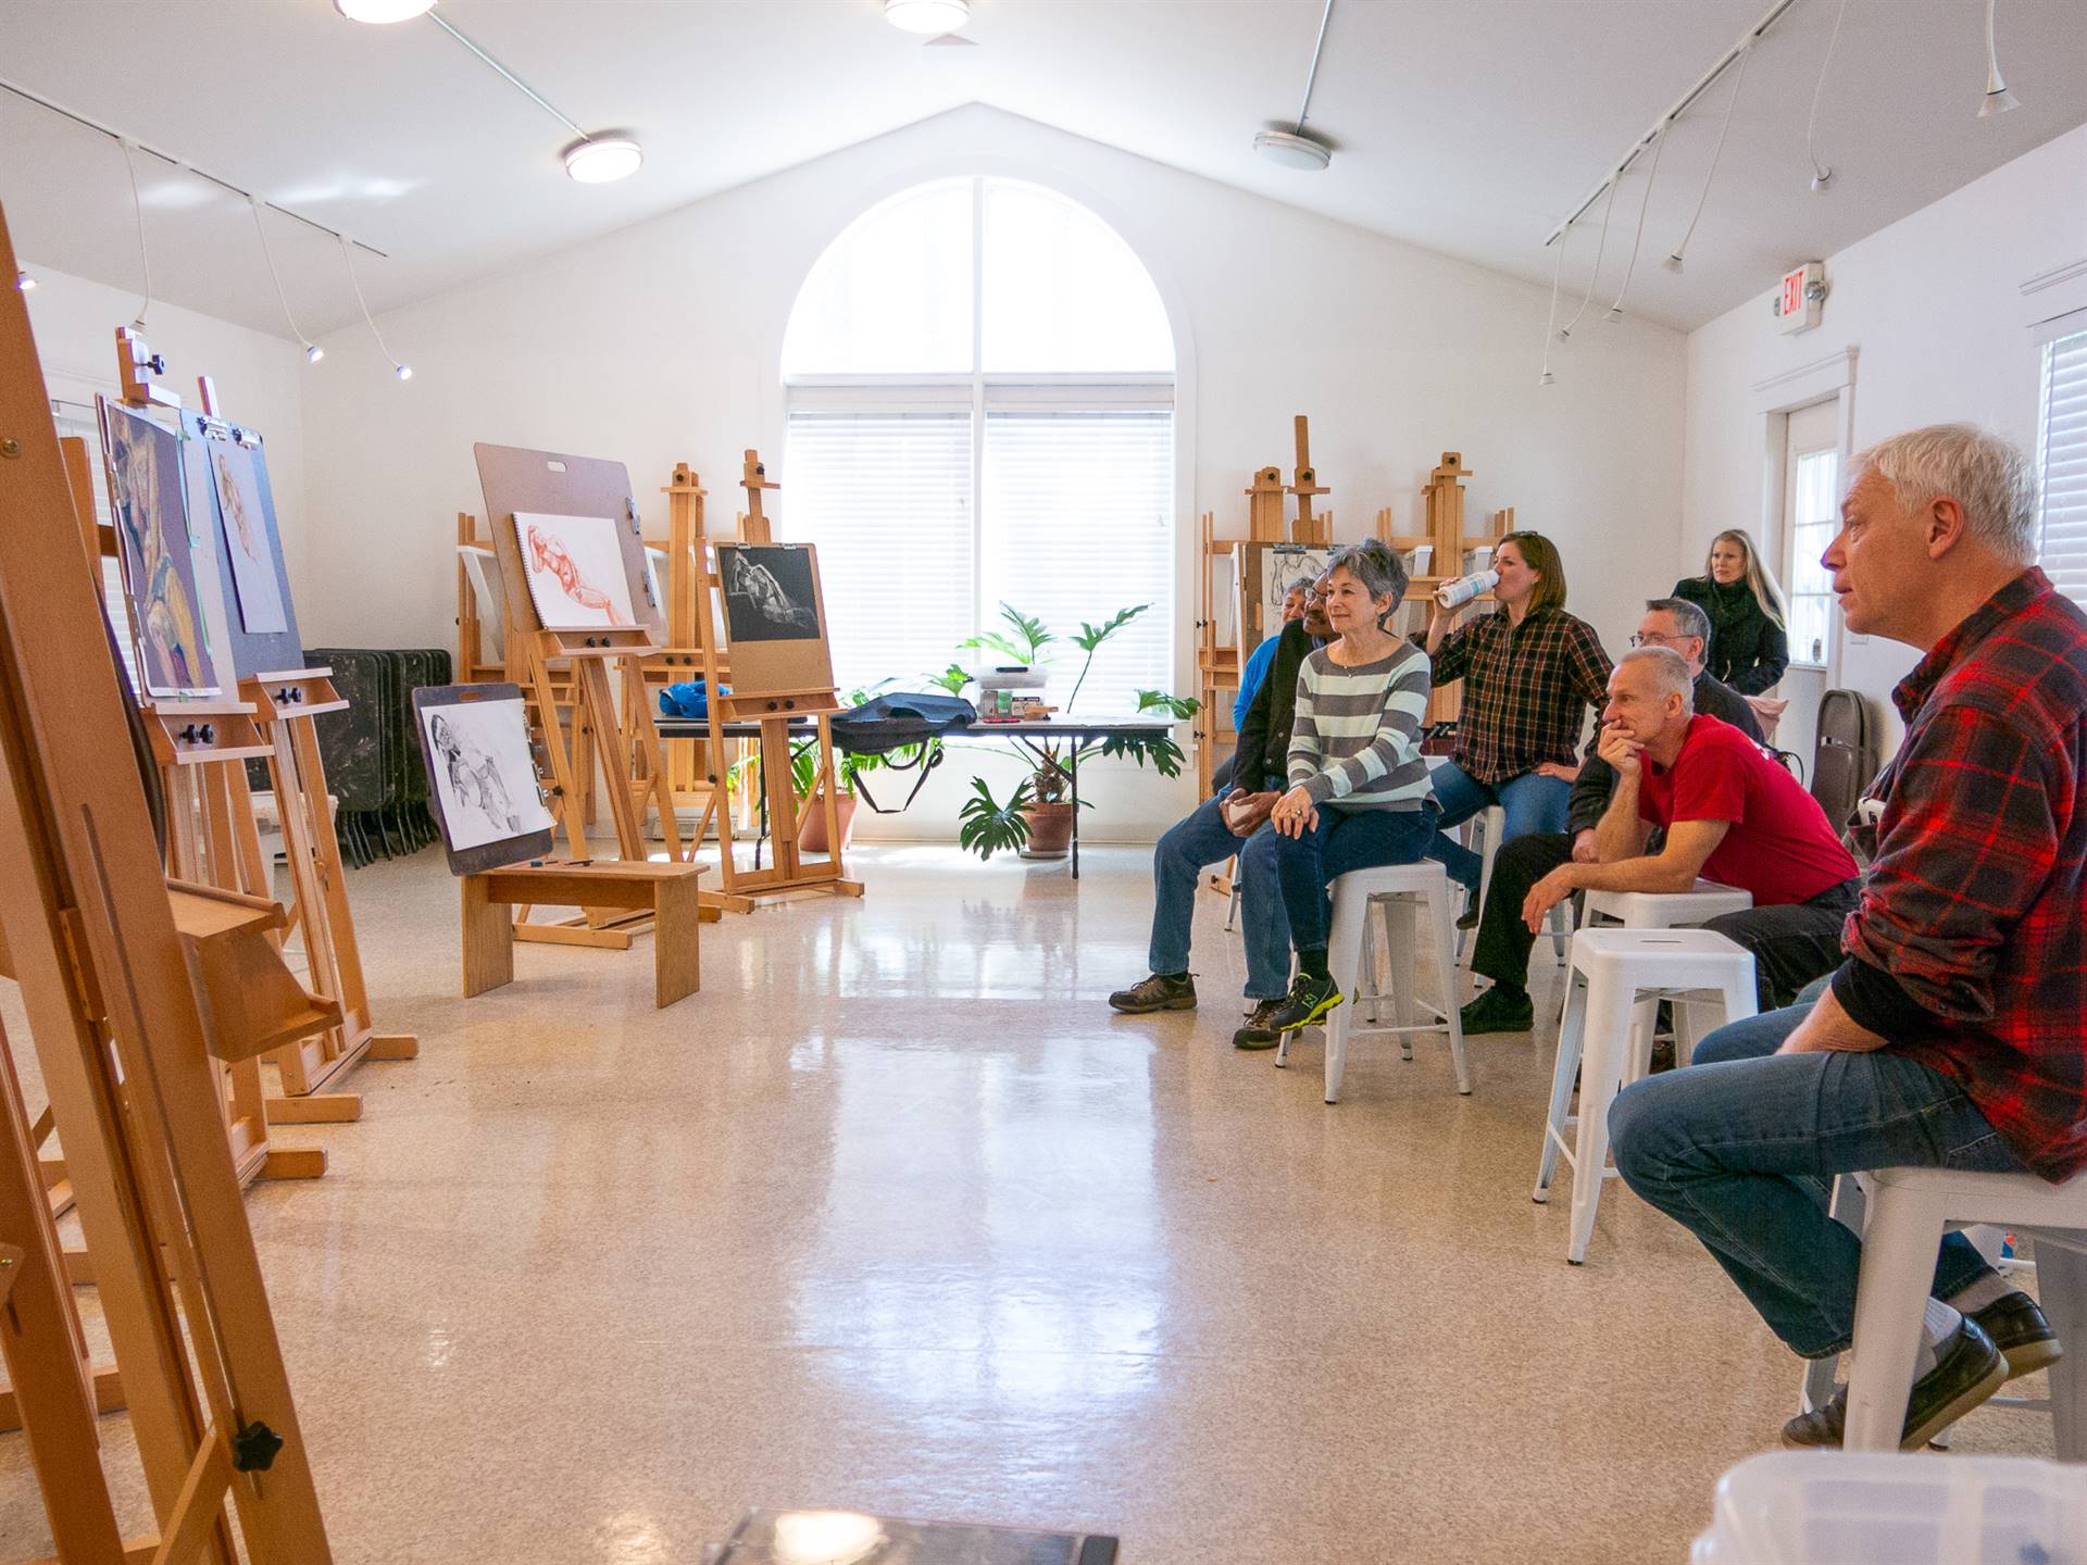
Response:
[{"label": "white right-hand wall around the door and exit sign", "polygon": [[[1845,348],[1857,348],[1857,449],[1922,424],[1970,422],[2035,451],[2041,357],[2026,326],[2045,311],[2020,284],[2072,261],[2087,261],[2087,127],[1826,257],[1832,294],[1818,330],[1778,336],[1770,288],[1693,332],[1684,557],[1701,561],[1724,528],[1759,536],[1768,480],[1753,386]],[[1891,687],[1918,659],[1876,636],[1841,647],[1837,682],[1872,697],[1887,755],[1901,732]],[[1812,753],[1809,730],[1784,730],[1778,743]]]}]

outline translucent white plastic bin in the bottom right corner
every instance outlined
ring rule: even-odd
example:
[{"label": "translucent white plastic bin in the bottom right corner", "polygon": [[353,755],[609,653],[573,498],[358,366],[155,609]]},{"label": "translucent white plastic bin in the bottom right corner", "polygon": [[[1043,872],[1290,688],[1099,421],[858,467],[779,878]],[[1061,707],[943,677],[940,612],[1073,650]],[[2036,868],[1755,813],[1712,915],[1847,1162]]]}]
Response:
[{"label": "translucent white plastic bin in the bottom right corner", "polygon": [[2087,1565],[2087,1467],[2029,1456],[1751,1456],[1690,1565]]}]

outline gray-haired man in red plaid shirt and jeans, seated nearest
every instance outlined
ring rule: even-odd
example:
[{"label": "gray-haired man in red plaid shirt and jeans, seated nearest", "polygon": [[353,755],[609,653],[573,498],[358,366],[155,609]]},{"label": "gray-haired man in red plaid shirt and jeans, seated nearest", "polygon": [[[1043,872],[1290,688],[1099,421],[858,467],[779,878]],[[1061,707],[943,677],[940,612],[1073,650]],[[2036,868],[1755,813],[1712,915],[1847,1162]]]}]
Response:
[{"label": "gray-haired man in red plaid shirt and jeans, seated nearest", "polygon": [[[1924,657],[1893,691],[1905,741],[1866,803],[1845,960],[1809,1004],[1711,1033],[1609,1110],[1630,1187],[1805,1358],[1855,1325],[1862,1239],[1826,1214],[1834,1175],[2087,1171],[2087,613],[2035,540],[2035,474],[2004,440],[1937,426],[1855,459],[1822,563],[1849,630]],[[2029,1296],[1951,1235],[1903,1444],[2058,1356]],[[1839,1392],[1782,1440],[1837,1446],[1845,1415]]]}]

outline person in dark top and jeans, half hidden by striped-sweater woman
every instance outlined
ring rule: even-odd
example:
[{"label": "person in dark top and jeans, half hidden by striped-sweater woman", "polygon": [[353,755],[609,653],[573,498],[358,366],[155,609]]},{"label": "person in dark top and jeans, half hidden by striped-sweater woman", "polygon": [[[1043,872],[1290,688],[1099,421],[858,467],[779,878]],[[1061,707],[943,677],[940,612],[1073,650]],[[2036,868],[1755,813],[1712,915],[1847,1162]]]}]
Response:
[{"label": "person in dark top and jeans, half hidden by striped-sweater woman", "polygon": [[1246,933],[1246,997],[1256,1012],[1290,995],[1290,920],[1275,883],[1275,833],[1265,830],[1290,768],[1290,726],[1296,720],[1298,668],[1332,634],[1325,620],[1325,578],[1313,582],[1304,618],[1284,626],[1275,661],[1240,724],[1229,793],[1204,799],[1152,851],[1152,977],[1108,997],[1114,1010],[1194,1010],[1196,979],[1188,970],[1196,881],[1210,864],[1240,856],[1240,922]]}]

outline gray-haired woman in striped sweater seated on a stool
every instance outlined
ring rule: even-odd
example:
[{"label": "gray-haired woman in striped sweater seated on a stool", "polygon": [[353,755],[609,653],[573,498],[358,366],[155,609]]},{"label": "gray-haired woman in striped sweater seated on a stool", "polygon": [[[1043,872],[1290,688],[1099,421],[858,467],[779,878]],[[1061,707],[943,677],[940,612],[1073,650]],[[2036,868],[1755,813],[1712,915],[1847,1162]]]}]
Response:
[{"label": "gray-haired woman in striped sweater seated on a stool", "polygon": [[1390,630],[1407,568],[1371,538],[1327,565],[1325,616],[1334,641],[1298,670],[1290,730],[1290,791],[1269,820],[1298,974],[1238,1031],[1242,1050],[1267,1050],[1332,1012],[1342,995],[1327,970],[1327,887],[1348,870],[1413,864],[1436,837],[1438,810],[1421,722],[1428,653]]}]

